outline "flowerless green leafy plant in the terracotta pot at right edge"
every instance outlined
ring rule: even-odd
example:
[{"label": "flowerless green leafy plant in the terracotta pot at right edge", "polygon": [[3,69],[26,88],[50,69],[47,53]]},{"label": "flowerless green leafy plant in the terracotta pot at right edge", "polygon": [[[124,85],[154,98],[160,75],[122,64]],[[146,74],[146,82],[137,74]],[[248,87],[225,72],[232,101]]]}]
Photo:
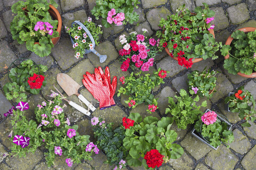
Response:
[{"label": "flowerless green leafy plant in the terracotta pot at right edge", "polygon": [[221,55],[229,54],[229,58],[224,61],[224,69],[230,74],[252,74],[256,71],[256,30],[248,33],[237,30],[231,37],[234,38],[231,44],[220,49]]}]

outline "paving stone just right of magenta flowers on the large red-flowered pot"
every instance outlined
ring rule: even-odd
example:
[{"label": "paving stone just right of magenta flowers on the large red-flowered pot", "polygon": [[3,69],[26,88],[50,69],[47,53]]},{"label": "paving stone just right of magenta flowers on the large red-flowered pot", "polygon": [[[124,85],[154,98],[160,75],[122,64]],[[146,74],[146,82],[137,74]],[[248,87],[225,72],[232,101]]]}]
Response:
[{"label": "paving stone just right of magenta flowers on the large red-flowered pot", "polygon": [[229,26],[228,18],[222,7],[212,7],[212,11],[215,12],[214,20],[211,25],[214,25],[214,31],[223,30]]}]

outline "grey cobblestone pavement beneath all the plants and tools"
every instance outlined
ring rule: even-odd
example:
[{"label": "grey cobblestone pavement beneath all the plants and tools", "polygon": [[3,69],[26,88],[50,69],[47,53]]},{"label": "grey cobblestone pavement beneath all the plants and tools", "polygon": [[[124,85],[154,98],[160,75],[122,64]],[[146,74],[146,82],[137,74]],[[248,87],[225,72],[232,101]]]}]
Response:
[{"label": "grey cobblestone pavement beneath all the plants and tools", "polygon": [[[0,169],[48,169],[45,163],[43,148],[38,149],[35,154],[28,154],[26,158],[18,157],[2,157],[3,152],[10,151],[11,143],[7,139],[7,134],[10,131],[10,117],[4,117],[12,103],[8,101],[3,94],[3,85],[8,81],[6,74],[6,66],[9,66],[12,61],[18,57],[31,58],[38,64],[47,65],[50,69],[46,72],[47,85],[43,88],[41,94],[30,96],[28,101],[31,106],[28,112],[29,118],[34,118],[33,109],[37,103],[42,102],[46,95],[50,93],[53,84],[57,85],[55,79],[60,72],[67,73],[73,77],[79,84],[82,85],[82,75],[86,72],[93,72],[94,67],[101,66],[105,68],[109,66],[110,74],[113,77],[116,75],[120,78],[123,75],[128,75],[128,72],[122,72],[118,62],[118,37],[123,33],[136,30],[141,31],[142,28],[149,30],[148,36],[154,36],[158,29],[158,21],[168,14],[172,14],[175,9],[182,4],[193,10],[195,6],[202,5],[203,2],[210,5],[210,8],[216,12],[215,15],[215,36],[218,41],[225,43],[231,32],[242,27],[256,27],[256,1],[255,0],[140,0],[141,4],[136,9],[140,14],[139,23],[125,25],[122,27],[103,28],[103,36],[101,43],[96,48],[103,55],[107,55],[108,59],[105,63],[99,63],[99,58],[94,54],[88,54],[82,59],[77,60],[74,57],[74,50],[71,47],[71,42],[68,34],[64,30],[64,26],[70,26],[74,20],[84,21],[87,16],[92,16],[90,10],[95,5],[95,0],[55,0],[59,4],[58,10],[61,13],[63,27],[62,37],[59,43],[52,49],[52,53],[44,58],[36,56],[29,52],[25,45],[19,45],[17,41],[13,41],[10,33],[10,22],[13,19],[11,5],[18,0],[0,0]],[[95,20],[94,20],[95,21]],[[96,21],[99,22],[99,21]],[[191,135],[193,126],[189,126],[187,130],[180,130],[177,126],[173,129],[178,133],[178,143],[184,148],[185,153],[181,158],[170,160],[169,163],[162,165],[157,169],[175,169],[175,170],[190,170],[190,169],[256,169],[256,124],[252,123],[250,128],[242,128],[238,114],[226,112],[224,109],[223,99],[229,91],[235,91],[240,86],[245,86],[252,92],[256,98],[256,83],[254,79],[246,79],[238,75],[231,75],[223,69],[223,56],[216,61],[205,60],[193,65],[191,69],[184,69],[179,66],[176,61],[167,56],[165,52],[159,53],[157,61],[154,64],[154,69],[161,67],[169,70],[170,73],[165,78],[165,84],[161,86],[154,95],[159,98],[159,109],[153,116],[161,117],[167,107],[168,96],[174,96],[181,88],[187,88],[187,74],[193,70],[203,70],[205,66],[212,67],[220,71],[217,79],[217,87],[212,99],[209,100],[209,108],[226,115],[230,122],[233,123],[233,132],[235,141],[231,143],[228,149],[221,146],[218,150],[213,150],[207,147],[204,143],[197,140]],[[121,84],[118,82],[117,90]],[[57,88],[61,89],[59,86]],[[81,94],[92,101],[94,106],[99,106],[97,100],[93,99],[92,95],[85,88],[81,88]],[[95,141],[90,125],[92,116],[102,116],[106,122],[115,122],[117,126],[121,123],[122,117],[129,115],[131,112],[139,112],[146,116],[145,105],[140,105],[135,109],[129,109],[124,103],[125,96],[114,97],[117,106],[99,111],[99,108],[91,114],[84,116],[77,112],[74,108],[68,106],[66,115],[70,118],[72,124],[79,126],[80,134],[91,135],[90,140]],[[70,100],[79,103],[77,97],[69,97]],[[72,125],[71,124],[71,125]],[[55,161],[55,167],[49,169],[113,169],[113,167],[103,164],[106,160],[106,155],[100,152],[99,155],[94,155],[93,160],[85,161],[82,164],[75,165],[69,168],[65,163],[64,157],[59,157]],[[127,169],[145,169],[143,167],[127,167]]]}]

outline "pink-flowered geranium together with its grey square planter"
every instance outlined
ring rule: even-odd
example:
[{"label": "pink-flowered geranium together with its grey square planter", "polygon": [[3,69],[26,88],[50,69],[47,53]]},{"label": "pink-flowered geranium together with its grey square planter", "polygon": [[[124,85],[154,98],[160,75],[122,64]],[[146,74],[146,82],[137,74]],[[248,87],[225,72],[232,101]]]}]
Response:
[{"label": "pink-flowered geranium together with its grey square planter", "polygon": [[199,116],[199,120],[192,131],[196,138],[215,150],[218,149],[221,142],[227,145],[227,142],[231,143],[234,140],[231,123],[226,117],[225,120],[221,116],[223,115],[217,115],[207,109],[204,114]]}]

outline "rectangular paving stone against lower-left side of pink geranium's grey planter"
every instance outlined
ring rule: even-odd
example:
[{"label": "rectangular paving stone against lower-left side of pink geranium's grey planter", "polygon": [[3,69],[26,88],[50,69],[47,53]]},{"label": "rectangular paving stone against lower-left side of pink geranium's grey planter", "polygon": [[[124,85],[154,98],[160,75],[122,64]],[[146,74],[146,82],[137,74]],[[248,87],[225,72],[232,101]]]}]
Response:
[{"label": "rectangular paving stone against lower-left side of pink geranium's grey planter", "polygon": [[186,135],[186,137],[180,142],[180,145],[196,160],[199,160],[208,152],[213,150],[211,147],[205,145],[205,143],[194,137],[191,133]]}]

